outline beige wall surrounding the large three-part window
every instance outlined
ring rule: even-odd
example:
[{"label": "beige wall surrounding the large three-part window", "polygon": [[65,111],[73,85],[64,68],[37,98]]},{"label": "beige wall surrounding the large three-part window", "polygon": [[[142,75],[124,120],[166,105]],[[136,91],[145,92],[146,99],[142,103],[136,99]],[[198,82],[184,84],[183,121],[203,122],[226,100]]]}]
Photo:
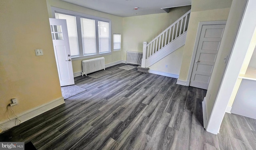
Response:
[{"label": "beige wall surrounding the large three-part window", "polygon": [[[74,4],[63,2],[61,0],[46,0],[46,1],[47,1],[49,18],[54,18],[54,17],[52,17],[52,10],[51,10],[51,6],[54,6],[54,7],[57,7],[57,8],[71,10],[71,11],[74,11],[74,12],[80,12],[80,13],[83,13],[83,14],[88,14],[88,15],[92,15],[92,16],[98,16],[98,17],[101,17],[101,18],[110,19],[111,20],[111,51],[112,51],[112,54],[103,56],[103,57],[105,57],[105,64],[109,64],[109,63],[113,63],[113,62],[122,60],[122,56],[121,56],[122,55],[122,49],[121,49],[121,51],[113,51],[113,38],[112,38],[113,34],[123,34],[122,33],[123,32],[122,17],[118,17],[118,16],[98,12],[98,11],[91,10],[91,9],[88,9],[88,8],[84,8],[84,7],[81,7],[81,6],[77,6],[77,5],[74,5]],[[122,37],[123,37],[123,35],[122,35]],[[82,60],[85,60],[85,59],[72,61],[73,72],[74,73],[82,71]]]}]

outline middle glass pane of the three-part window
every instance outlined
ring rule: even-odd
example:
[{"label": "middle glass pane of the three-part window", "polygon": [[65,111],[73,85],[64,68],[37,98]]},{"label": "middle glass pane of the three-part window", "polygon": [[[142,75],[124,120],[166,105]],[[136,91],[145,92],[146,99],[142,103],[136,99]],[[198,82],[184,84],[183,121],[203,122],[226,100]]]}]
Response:
[{"label": "middle glass pane of the three-part window", "polygon": [[81,28],[84,54],[97,53],[95,20],[81,18]]}]

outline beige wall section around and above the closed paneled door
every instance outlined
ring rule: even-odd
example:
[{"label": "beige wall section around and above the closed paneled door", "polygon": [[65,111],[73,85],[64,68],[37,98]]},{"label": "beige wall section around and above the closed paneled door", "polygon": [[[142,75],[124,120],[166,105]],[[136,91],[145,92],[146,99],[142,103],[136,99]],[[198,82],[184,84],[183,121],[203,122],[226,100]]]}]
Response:
[{"label": "beige wall section around and above the closed paneled door", "polygon": [[[189,81],[188,71],[190,69],[190,62],[192,59],[192,53],[194,50],[194,44],[196,40],[196,34],[198,30],[199,22],[203,21],[217,21],[227,20],[230,10],[230,0],[192,0],[192,9],[190,14],[190,22],[188,25],[187,39],[184,47],[184,53],[182,58],[182,65],[180,69],[180,81]],[[218,3],[219,2],[219,3]],[[225,5],[220,5],[225,4]],[[223,7],[226,8],[223,8]],[[208,9],[208,10],[205,10]]]}]

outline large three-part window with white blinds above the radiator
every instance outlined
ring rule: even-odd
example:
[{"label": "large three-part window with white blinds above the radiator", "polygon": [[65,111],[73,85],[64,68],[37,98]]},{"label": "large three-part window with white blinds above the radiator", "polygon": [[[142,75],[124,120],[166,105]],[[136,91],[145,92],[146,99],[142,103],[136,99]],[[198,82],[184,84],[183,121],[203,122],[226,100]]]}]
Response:
[{"label": "large three-part window with white blinds above the radiator", "polygon": [[67,21],[73,60],[111,53],[110,20],[55,7],[52,11],[55,18]]}]

